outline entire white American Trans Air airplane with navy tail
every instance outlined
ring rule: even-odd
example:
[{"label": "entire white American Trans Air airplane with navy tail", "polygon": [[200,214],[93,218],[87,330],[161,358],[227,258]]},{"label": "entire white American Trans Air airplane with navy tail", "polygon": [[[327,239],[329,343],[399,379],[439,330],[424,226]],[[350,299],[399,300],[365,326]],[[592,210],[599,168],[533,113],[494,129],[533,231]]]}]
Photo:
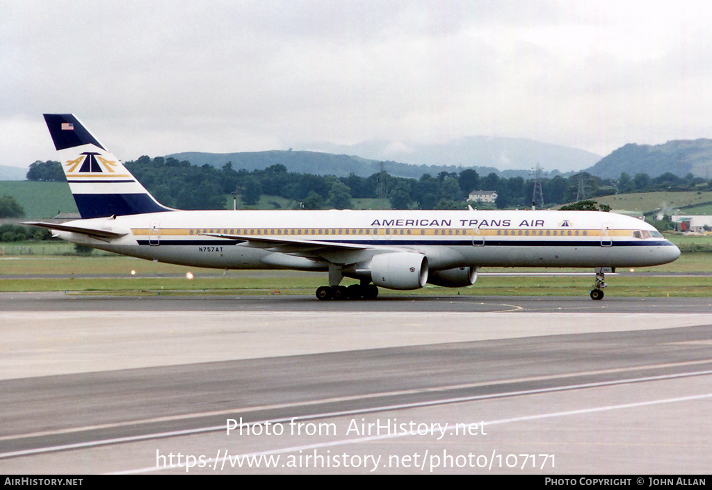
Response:
[{"label": "entire white American Trans Air airplane with navy tail", "polygon": [[[71,114],[45,114],[81,219],[27,221],[66,241],[169,264],[328,271],[320,300],[379,287],[471,286],[481,267],[591,267],[594,300],[616,267],[666,264],[677,246],[611,212],[214,210],[165,207]],[[341,286],[343,278],[358,284]]]}]

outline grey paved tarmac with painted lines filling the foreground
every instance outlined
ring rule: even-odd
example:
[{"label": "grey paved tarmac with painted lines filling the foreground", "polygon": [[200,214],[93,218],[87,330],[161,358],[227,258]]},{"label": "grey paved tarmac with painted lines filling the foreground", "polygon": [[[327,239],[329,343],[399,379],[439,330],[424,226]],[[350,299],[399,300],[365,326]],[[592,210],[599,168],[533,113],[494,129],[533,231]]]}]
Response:
[{"label": "grey paved tarmac with painted lines filling the foreground", "polygon": [[709,303],[4,293],[0,471],[706,474]]}]

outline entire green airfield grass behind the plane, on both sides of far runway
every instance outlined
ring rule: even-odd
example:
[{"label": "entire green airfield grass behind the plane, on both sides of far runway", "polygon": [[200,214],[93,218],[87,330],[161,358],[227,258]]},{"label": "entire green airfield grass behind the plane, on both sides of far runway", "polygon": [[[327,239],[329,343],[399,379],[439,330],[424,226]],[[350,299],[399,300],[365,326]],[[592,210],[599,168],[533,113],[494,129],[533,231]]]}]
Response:
[{"label": "entire green airfield grass behind the plane, on both sides of far runway", "polygon": [[[136,275],[132,276],[132,271]],[[590,269],[486,268],[481,272],[531,273],[535,271],[592,272]],[[637,269],[633,274],[609,276],[611,296],[712,296],[712,276],[650,277],[647,271],[671,273],[712,272],[709,254],[686,254],[663,266]],[[194,276],[188,279],[186,274]],[[619,271],[622,272],[622,271]],[[623,271],[627,272],[627,271]],[[31,276],[43,276],[35,278]],[[88,277],[96,276],[96,277]],[[110,277],[103,277],[110,276]],[[47,278],[48,277],[48,278]],[[0,291],[74,291],[110,294],[307,294],[327,282],[325,273],[298,271],[222,271],[174,266],[132,257],[4,256],[0,259]],[[345,279],[344,284],[355,283]],[[388,291],[392,295],[437,296],[586,296],[592,276],[531,277],[482,276],[468,288],[426,286],[417,291]]]}]

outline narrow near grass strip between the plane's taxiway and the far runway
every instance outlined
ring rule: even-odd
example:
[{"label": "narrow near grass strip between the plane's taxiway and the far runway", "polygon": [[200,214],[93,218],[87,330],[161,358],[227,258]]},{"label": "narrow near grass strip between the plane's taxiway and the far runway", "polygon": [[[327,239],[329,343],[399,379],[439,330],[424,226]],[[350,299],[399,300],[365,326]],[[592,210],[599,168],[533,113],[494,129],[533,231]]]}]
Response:
[{"label": "narrow near grass strip between the plane's taxiway and the far runway", "polygon": [[[132,264],[127,264],[132,265]],[[125,278],[12,278],[0,277],[0,291],[73,291],[110,294],[306,294],[313,295],[327,282],[325,273],[293,271],[230,271],[226,276],[131,277]],[[383,296],[586,296],[594,282],[592,276],[530,277],[483,276],[468,288],[442,288],[428,285],[416,291],[389,291]],[[346,280],[344,285],[355,283]],[[712,277],[609,276],[606,293],[612,296],[712,296]]]}]

